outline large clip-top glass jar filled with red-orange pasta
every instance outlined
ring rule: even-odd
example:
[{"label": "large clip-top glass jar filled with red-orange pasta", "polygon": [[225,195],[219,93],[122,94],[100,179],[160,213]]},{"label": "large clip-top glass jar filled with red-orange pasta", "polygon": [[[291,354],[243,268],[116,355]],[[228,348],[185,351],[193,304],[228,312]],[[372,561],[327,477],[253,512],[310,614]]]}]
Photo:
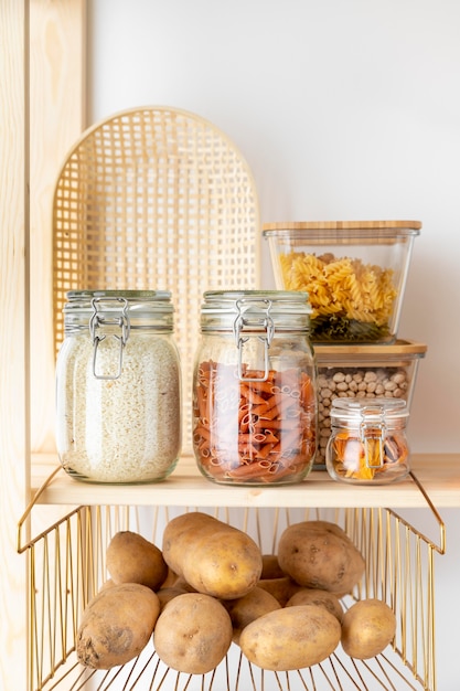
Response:
[{"label": "large clip-top glass jar filled with red-orange pasta", "polygon": [[229,485],[291,483],[317,449],[307,294],[207,291],[193,375],[201,472]]}]

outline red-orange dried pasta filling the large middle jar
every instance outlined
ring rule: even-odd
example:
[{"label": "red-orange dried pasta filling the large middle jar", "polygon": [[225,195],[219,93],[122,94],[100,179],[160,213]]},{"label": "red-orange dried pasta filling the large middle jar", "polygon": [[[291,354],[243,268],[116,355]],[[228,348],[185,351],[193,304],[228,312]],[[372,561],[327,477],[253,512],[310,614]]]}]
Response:
[{"label": "red-orange dried pasta filling the large middle jar", "polygon": [[216,481],[302,479],[317,448],[317,400],[299,368],[247,371],[214,361],[196,370],[193,446],[204,475]]}]

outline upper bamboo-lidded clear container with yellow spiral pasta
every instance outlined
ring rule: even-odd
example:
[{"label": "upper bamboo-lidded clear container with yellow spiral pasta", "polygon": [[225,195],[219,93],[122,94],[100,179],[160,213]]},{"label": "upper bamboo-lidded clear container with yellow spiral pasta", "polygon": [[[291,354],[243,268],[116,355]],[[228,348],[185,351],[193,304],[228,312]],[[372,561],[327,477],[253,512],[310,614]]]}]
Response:
[{"label": "upper bamboo-lidded clear container with yellow spiral pasta", "polygon": [[309,295],[315,343],[392,343],[419,221],[267,223],[278,289]]}]

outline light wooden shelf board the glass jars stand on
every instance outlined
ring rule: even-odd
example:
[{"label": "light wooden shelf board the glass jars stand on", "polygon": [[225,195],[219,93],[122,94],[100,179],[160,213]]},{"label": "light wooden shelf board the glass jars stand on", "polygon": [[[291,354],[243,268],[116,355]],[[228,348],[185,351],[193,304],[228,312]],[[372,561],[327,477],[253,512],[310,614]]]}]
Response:
[{"label": "light wooden shelf board the glass jars stand on", "polygon": [[[53,455],[32,459],[32,498],[58,460]],[[411,470],[437,508],[460,508],[460,454],[417,454]],[[169,479],[149,485],[93,485],[58,470],[36,497],[41,504],[122,504],[176,507],[317,507],[426,508],[427,499],[413,478],[395,485],[345,486],[325,470],[314,470],[297,485],[233,487],[215,485],[197,470],[192,457],[181,458]]]}]

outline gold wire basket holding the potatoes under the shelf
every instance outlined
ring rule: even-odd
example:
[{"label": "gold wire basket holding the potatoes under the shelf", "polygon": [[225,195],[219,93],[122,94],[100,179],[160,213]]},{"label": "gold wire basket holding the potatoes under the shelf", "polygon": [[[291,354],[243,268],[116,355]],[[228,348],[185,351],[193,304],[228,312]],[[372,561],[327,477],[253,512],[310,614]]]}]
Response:
[{"label": "gold wire basket holding the potatoes under the shelf", "polygon": [[364,597],[385,600],[397,617],[393,644],[365,661],[349,658],[339,646],[321,665],[285,673],[255,667],[235,644],[221,665],[204,676],[169,669],[158,658],[152,641],[136,660],[107,672],[79,666],[75,655],[78,621],[108,577],[105,552],[110,538],[119,530],[131,530],[161,545],[165,523],[189,509],[82,506],[22,544],[28,519],[33,528],[32,508],[39,491],[20,520],[18,533],[18,551],[28,554],[29,563],[29,690],[435,691],[435,554],[445,552],[445,524],[414,475],[413,479],[437,521],[439,544],[387,508],[190,509],[206,511],[246,531],[264,553],[276,551],[288,524],[319,518],[341,525],[362,551],[365,576],[343,605],[346,608]]}]

